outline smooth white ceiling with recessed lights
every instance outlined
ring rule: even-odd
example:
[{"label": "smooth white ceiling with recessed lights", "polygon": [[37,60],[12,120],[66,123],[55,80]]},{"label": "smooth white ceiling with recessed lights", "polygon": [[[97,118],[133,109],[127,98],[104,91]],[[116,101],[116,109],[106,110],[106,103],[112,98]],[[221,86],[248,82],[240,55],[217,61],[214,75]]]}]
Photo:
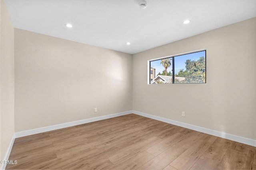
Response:
[{"label": "smooth white ceiling with recessed lights", "polygon": [[147,2],[140,9],[138,0],[6,0],[15,28],[130,54],[256,17],[256,0]]}]

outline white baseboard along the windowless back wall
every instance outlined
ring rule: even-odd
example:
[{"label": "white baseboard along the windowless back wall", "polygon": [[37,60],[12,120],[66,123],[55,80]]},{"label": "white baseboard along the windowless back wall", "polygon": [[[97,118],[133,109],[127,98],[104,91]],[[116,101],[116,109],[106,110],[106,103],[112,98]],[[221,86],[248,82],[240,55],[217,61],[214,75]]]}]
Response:
[{"label": "white baseboard along the windowless back wall", "polygon": [[104,119],[110,119],[110,118],[113,118],[113,117],[128,115],[128,114],[131,114],[131,113],[132,113],[132,111],[126,111],[126,112],[121,112],[121,113],[115,113],[115,114],[112,114],[112,115],[93,117],[93,118],[90,118],[90,119],[84,119],[84,120],[80,120],[80,121],[62,123],[62,124],[59,124],[59,125],[52,125],[52,126],[48,126],[48,127],[35,128],[35,129],[31,129],[31,130],[16,132],[15,136],[16,136],[16,138],[19,138],[19,137],[23,137],[23,136],[32,135],[32,134],[48,132],[48,131],[56,130],[56,129],[60,129],[60,128],[72,127],[72,126],[76,126],[76,125],[82,125],[84,123],[90,123],[90,122],[95,122],[95,121],[101,121],[101,120],[104,120]]}]

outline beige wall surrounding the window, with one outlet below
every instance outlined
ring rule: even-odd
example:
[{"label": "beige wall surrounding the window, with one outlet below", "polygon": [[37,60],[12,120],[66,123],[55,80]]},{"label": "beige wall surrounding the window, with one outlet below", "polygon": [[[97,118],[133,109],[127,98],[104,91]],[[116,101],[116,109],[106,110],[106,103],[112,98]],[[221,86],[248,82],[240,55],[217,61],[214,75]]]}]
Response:
[{"label": "beige wall surrounding the window, with one outlet below", "polygon": [[[256,140],[255,30],[252,18],[133,55],[133,110]],[[147,60],[204,48],[206,84],[147,84]]]}]

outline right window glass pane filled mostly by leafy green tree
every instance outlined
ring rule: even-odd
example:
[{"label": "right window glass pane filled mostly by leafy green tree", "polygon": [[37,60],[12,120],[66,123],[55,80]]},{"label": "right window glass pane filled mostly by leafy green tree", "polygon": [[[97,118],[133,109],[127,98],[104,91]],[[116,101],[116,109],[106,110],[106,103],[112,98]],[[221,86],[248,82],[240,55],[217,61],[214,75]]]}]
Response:
[{"label": "right window glass pane filled mostly by leafy green tree", "polygon": [[206,51],[174,57],[174,83],[206,83]]}]

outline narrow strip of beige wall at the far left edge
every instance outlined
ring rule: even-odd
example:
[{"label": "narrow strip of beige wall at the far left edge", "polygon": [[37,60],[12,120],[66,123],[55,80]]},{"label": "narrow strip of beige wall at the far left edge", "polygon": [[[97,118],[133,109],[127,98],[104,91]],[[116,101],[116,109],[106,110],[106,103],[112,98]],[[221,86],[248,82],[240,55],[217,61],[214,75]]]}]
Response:
[{"label": "narrow strip of beige wall at the far left edge", "polygon": [[1,159],[14,134],[14,28],[4,0],[1,6],[0,117]]}]

